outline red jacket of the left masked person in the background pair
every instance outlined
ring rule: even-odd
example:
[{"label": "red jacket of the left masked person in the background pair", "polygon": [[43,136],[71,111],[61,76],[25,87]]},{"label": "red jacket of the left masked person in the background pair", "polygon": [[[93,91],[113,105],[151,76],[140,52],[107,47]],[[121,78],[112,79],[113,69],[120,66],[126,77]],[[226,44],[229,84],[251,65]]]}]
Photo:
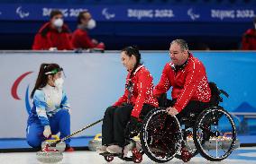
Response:
[{"label": "red jacket of the left masked person in the background pair", "polygon": [[34,38],[32,49],[48,50],[50,47],[57,47],[58,50],[73,49],[70,43],[69,27],[64,24],[61,32],[53,29],[50,22],[45,23]]}]

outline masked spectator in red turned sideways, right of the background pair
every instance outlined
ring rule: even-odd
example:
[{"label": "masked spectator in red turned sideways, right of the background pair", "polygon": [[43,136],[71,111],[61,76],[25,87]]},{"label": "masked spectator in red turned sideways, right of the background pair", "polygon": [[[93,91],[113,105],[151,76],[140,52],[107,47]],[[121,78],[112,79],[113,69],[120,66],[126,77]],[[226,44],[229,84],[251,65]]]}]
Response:
[{"label": "masked spectator in red turned sideways, right of the background pair", "polygon": [[90,39],[87,30],[96,27],[95,20],[92,19],[88,11],[80,12],[78,14],[78,29],[74,31],[72,36],[72,44],[74,48],[99,48],[105,49],[103,42],[98,43],[96,39]]}]

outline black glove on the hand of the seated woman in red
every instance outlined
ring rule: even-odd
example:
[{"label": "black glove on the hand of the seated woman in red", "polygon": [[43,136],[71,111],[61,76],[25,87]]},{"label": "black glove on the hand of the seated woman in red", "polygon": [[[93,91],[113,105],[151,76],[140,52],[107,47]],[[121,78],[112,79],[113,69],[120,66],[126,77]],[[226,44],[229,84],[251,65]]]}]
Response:
[{"label": "black glove on the hand of the seated woman in red", "polygon": [[131,120],[126,125],[125,136],[128,138],[133,138],[140,133],[142,123],[138,121],[136,117],[131,117]]}]

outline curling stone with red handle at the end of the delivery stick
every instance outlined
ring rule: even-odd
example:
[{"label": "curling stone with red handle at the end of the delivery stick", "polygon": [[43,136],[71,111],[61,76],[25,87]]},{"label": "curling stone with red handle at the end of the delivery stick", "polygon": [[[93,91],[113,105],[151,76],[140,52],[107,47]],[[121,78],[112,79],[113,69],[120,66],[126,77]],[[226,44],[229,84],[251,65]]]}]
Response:
[{"label": "curling stone with red handle at the end of the delivery stick", "polygon": [[63,159],[63,154],[57,150],[49,150],[49,146],[36,153],[36,159],[42,163],[57,163]]}]

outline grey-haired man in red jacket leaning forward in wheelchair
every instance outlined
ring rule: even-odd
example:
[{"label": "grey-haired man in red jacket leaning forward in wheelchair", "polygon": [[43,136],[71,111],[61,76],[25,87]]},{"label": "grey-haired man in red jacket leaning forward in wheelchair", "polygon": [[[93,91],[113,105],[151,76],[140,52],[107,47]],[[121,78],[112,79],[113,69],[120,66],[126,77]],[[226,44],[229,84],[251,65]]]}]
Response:
[{"label": "grey-haired man in red jacket leaning forward in wheelchair", "polygon": [[169,55],[171,62],[165,65],[160,82],[153,91],[154,96],[159,97],[172,87],[172,102],[167,108],[169,115],[178,114],[179,118],[186,117],[192,110],[200,113],[209,106],[211,99],[205,66],[188,51],[183,39],[170,43]]}]

